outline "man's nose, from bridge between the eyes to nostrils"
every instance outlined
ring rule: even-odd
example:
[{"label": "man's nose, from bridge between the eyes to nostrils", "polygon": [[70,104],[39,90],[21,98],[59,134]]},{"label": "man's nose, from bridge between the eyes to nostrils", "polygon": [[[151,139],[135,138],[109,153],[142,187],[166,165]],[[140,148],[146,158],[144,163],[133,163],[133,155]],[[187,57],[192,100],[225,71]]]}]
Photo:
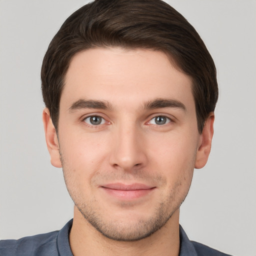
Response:
[{"label": "man's nose, from bridge between the eyes to nostrils", "polygon": [[136,125],[120,125],[113,131],[110,164],[124,171],[134,171],[146,164],[146,143]]}]

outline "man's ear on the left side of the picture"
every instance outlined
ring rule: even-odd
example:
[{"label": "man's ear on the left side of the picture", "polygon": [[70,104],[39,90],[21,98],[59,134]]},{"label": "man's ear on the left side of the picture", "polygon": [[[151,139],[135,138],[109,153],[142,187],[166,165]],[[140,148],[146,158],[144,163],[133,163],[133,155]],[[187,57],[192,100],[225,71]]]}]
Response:
[{"label": "man's ear on the left side of the picture", "polygon": [[62,167],[59,154],[59,144],[56,129],[51,121],[50,112],[48,108],[44,108],[42,111],[42,122],[44,126],[44,133],[47,148],[50,154],[50,162],[55,167]]}]

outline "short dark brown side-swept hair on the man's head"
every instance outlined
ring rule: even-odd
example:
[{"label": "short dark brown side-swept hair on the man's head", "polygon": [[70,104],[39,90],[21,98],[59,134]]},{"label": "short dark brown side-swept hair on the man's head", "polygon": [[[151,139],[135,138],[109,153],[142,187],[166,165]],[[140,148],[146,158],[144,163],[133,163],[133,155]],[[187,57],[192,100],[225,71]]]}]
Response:
[{"label": "short dark brown side-swept hair on the man's head", "polygon": [[64,78],[75,53],[120,46],[160,50],[193,80],[198,131],[218,97],[216,69],[193,26],[162,0],[95,0],[71,14],[51,40],[41,68],[41,89],[57,130]]}]

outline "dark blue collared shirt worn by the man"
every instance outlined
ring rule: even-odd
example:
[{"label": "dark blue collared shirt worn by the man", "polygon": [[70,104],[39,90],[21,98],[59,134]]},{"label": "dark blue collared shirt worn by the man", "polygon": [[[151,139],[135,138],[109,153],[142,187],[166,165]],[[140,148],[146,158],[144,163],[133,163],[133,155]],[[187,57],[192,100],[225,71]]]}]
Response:
[{"label": "dark blue collared shirt worn by the man", "polygon": [[[73,256],[68,241],[72,222],[72,219],[69,220],[59,231],[26,236],[17,240],[0,240],[0,256]],[[179,235],[179,256],[230,256],[190,241],[181,226]]]}]

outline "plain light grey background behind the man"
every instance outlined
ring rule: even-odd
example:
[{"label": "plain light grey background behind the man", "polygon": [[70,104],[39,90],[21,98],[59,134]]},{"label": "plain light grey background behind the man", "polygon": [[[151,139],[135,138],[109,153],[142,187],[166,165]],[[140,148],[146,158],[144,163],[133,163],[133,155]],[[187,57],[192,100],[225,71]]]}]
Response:
[{"label": "plain light grey background behind the man", "polygon": [[[40,65],[52,36],[84,0],[0,0],[0,238],[59,229],[72,217],[41,121]],[[207,165],[181,206],[190,239],[256,255],[256,1],[169,0],[194,25],[218,71]]]}]

